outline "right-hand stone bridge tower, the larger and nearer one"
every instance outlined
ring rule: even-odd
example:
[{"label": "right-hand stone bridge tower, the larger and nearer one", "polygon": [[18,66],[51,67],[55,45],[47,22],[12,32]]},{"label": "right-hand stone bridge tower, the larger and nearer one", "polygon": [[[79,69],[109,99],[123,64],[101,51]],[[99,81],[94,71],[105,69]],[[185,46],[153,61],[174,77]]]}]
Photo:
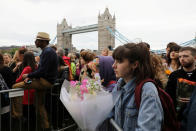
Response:
[{"label": "right-hand stone bridge tower, the larger and nearer one", "polygon": [[111,45],[115,47],[115,38],[107,30],[110,27],[113,31],[116,26],[115,15],[112,17],[108,8],[103,14],[98,16],[98,50],[101,51]]}]

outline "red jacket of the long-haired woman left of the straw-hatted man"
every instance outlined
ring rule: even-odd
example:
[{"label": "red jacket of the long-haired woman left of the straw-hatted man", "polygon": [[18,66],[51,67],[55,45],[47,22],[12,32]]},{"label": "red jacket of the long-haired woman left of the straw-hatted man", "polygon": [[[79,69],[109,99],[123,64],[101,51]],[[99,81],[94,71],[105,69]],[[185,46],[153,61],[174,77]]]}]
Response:
[{"label": "red jacket of the long-haired woman left of the straw-hatted man", "polygon": [[[32,72],[32,69],[30,66],[26,66],[22,73],[20,74],[19,78],[16,79],[16,83],[23,81],[22,79],[22,75],[23,74],[29,74]],[[23,96],[23,100],[22,100],[22,104],[24,105],[28,105],[28,92],[29,92],[29,104],[33,104],[34,103],[34,89],[29,89],[29,90],[24,90],[24,96]]]}]

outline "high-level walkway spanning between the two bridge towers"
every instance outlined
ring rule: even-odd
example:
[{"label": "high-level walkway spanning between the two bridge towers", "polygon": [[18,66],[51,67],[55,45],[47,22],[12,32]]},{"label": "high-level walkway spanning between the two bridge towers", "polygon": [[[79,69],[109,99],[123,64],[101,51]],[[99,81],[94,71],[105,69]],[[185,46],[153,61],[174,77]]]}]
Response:
[{"label": "high-level walkway spanning between the two bridge towers", "polygon": [[80,34],[80,33],[93,32],[93,31],[98,31],[98,24],[67,29],[67,30],[64,30],[62,33]]}]

